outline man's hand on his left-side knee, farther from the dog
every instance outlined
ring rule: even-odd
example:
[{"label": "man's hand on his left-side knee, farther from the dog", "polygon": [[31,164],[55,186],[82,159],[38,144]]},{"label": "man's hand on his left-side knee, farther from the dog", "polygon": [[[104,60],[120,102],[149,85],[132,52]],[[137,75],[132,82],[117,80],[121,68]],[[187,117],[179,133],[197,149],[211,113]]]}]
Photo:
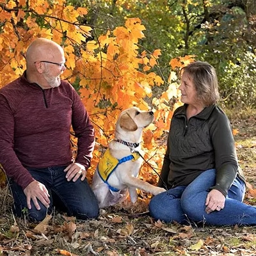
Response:
[{"label": "man's hand on his left-side knee, farther from the dog", "polygon": [[31,199],[35,204],[36,209],[38,211],[41,209],[38,200],[47,208],[49,208],[50,204],[50,195],[48,193],[47,188],[45,188],[44,184],[34,180],[26,186],[24,189],[24,193],[27,196],[27,205],[28,209],[31,209]]}]

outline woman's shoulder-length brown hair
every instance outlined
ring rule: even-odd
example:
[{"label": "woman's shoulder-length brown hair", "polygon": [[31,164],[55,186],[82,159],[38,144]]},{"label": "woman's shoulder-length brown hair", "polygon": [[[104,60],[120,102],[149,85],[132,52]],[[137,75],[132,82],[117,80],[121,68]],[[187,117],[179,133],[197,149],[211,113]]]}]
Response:
[{"label": "woman's shoulder-length brown hair", "polygon": [[195,61],[183,67],[180,72],[186,72],[193,81],[198,100],[205,106],[210,106],[220,98],[218,91],[218,77],[212,65],[204,61]]}]

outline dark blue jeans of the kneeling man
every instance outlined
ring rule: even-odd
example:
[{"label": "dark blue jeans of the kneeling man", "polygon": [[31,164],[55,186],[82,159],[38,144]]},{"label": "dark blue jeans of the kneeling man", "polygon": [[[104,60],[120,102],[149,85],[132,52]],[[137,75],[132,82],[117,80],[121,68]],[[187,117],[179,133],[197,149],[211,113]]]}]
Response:
[{"label": "dark blue jeans of the kneeling man", "polygon": [[67,181],[66,173],[63,172],[66,167],[28,168],[33,178],[44,184],[50,195],[51,204],[48,209],[38,200],[41,208],[39,211],[35,208],[32,200],[31,209],[28,209],[23,189],[10,179],[9,184],[13,195],[15,214],[20,217],[24,212],[26,213],[24,209],[28,209],[29,220],[42,221],[46,214],[51,214],[53,207],[58,205],[67,212],[68,216],[76,216],[80,220],[97,218],[99,215],[97,198],[87,180]]}]

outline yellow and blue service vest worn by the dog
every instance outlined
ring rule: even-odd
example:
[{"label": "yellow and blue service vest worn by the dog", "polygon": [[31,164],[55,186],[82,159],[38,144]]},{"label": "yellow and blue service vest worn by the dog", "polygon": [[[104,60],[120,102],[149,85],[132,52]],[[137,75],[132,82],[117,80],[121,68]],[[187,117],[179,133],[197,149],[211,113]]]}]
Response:
[{"label": "yellow and blue service vest worn by the dog", "polygon": [[[100,175],[100,178],[108,184],[108,179],[111,173],[113,173],[118,166],[118,164],[124,163],[126,161],[136,161],[140,158],[140,154],[137,152],[132,153],[130,156],[125,156],[122,159],[116,159],[111,156],[109,149],[106,150],[102,159],[100,159],[99,164],[97,166],[97,172]],[[119,189],[113,188],[109,186],[109,189],[112,191],[119,191]]]}]

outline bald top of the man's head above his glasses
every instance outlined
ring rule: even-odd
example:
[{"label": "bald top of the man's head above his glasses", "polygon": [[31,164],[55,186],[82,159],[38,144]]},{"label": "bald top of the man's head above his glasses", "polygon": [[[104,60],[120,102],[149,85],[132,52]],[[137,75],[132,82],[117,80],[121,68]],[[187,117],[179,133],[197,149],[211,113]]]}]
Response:
[{"label": "bald top of the man's head above his glasses", "polygon": [[35,61],[56,61],[64,52],[60,45],[46,38],[37,38],[26,52],[27,69],[34,67]]}]

